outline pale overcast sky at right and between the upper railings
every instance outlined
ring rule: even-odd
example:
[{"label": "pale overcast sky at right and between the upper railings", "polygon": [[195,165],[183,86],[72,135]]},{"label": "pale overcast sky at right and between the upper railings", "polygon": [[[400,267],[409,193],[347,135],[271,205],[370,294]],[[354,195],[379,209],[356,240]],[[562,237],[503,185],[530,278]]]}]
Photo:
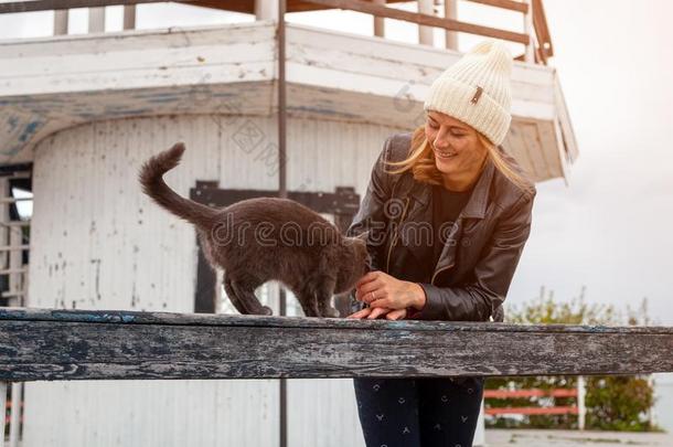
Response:
[{"label": "pale overcast sky at right and between the upper railings", "polygon": [[[462,20],[521,30],[520,15],[459,3]],[[563,180],[538,184],[533,231],[508,301],[521,304],[541,286],[570,299],[586,286],[591,302],[638,307],[673,324],[673,2],[545,0],[556,56],[580,156]],[[403,7],[404,8],[404,7]],[[159,13],[160,12],[160,13]],[[86,32],[74,10],[71,32]],[[334,20],[336,18],[336,20]],[[49,35],[52,13],[0,17],[0,39]],[[138,28],[250,21],[177,4],[140,6]],[[343,11],[290,14],[290,21],[371,34],[371,18]],[[108,8],[119,30],[121,8]],[[413,25],[386,20],[391,39],[416,42]],[[436,42],[441,42],[437,31]],[[466,51],[479,38],[461,36]],[[513,46],[517,53],[517,49]]]}]

